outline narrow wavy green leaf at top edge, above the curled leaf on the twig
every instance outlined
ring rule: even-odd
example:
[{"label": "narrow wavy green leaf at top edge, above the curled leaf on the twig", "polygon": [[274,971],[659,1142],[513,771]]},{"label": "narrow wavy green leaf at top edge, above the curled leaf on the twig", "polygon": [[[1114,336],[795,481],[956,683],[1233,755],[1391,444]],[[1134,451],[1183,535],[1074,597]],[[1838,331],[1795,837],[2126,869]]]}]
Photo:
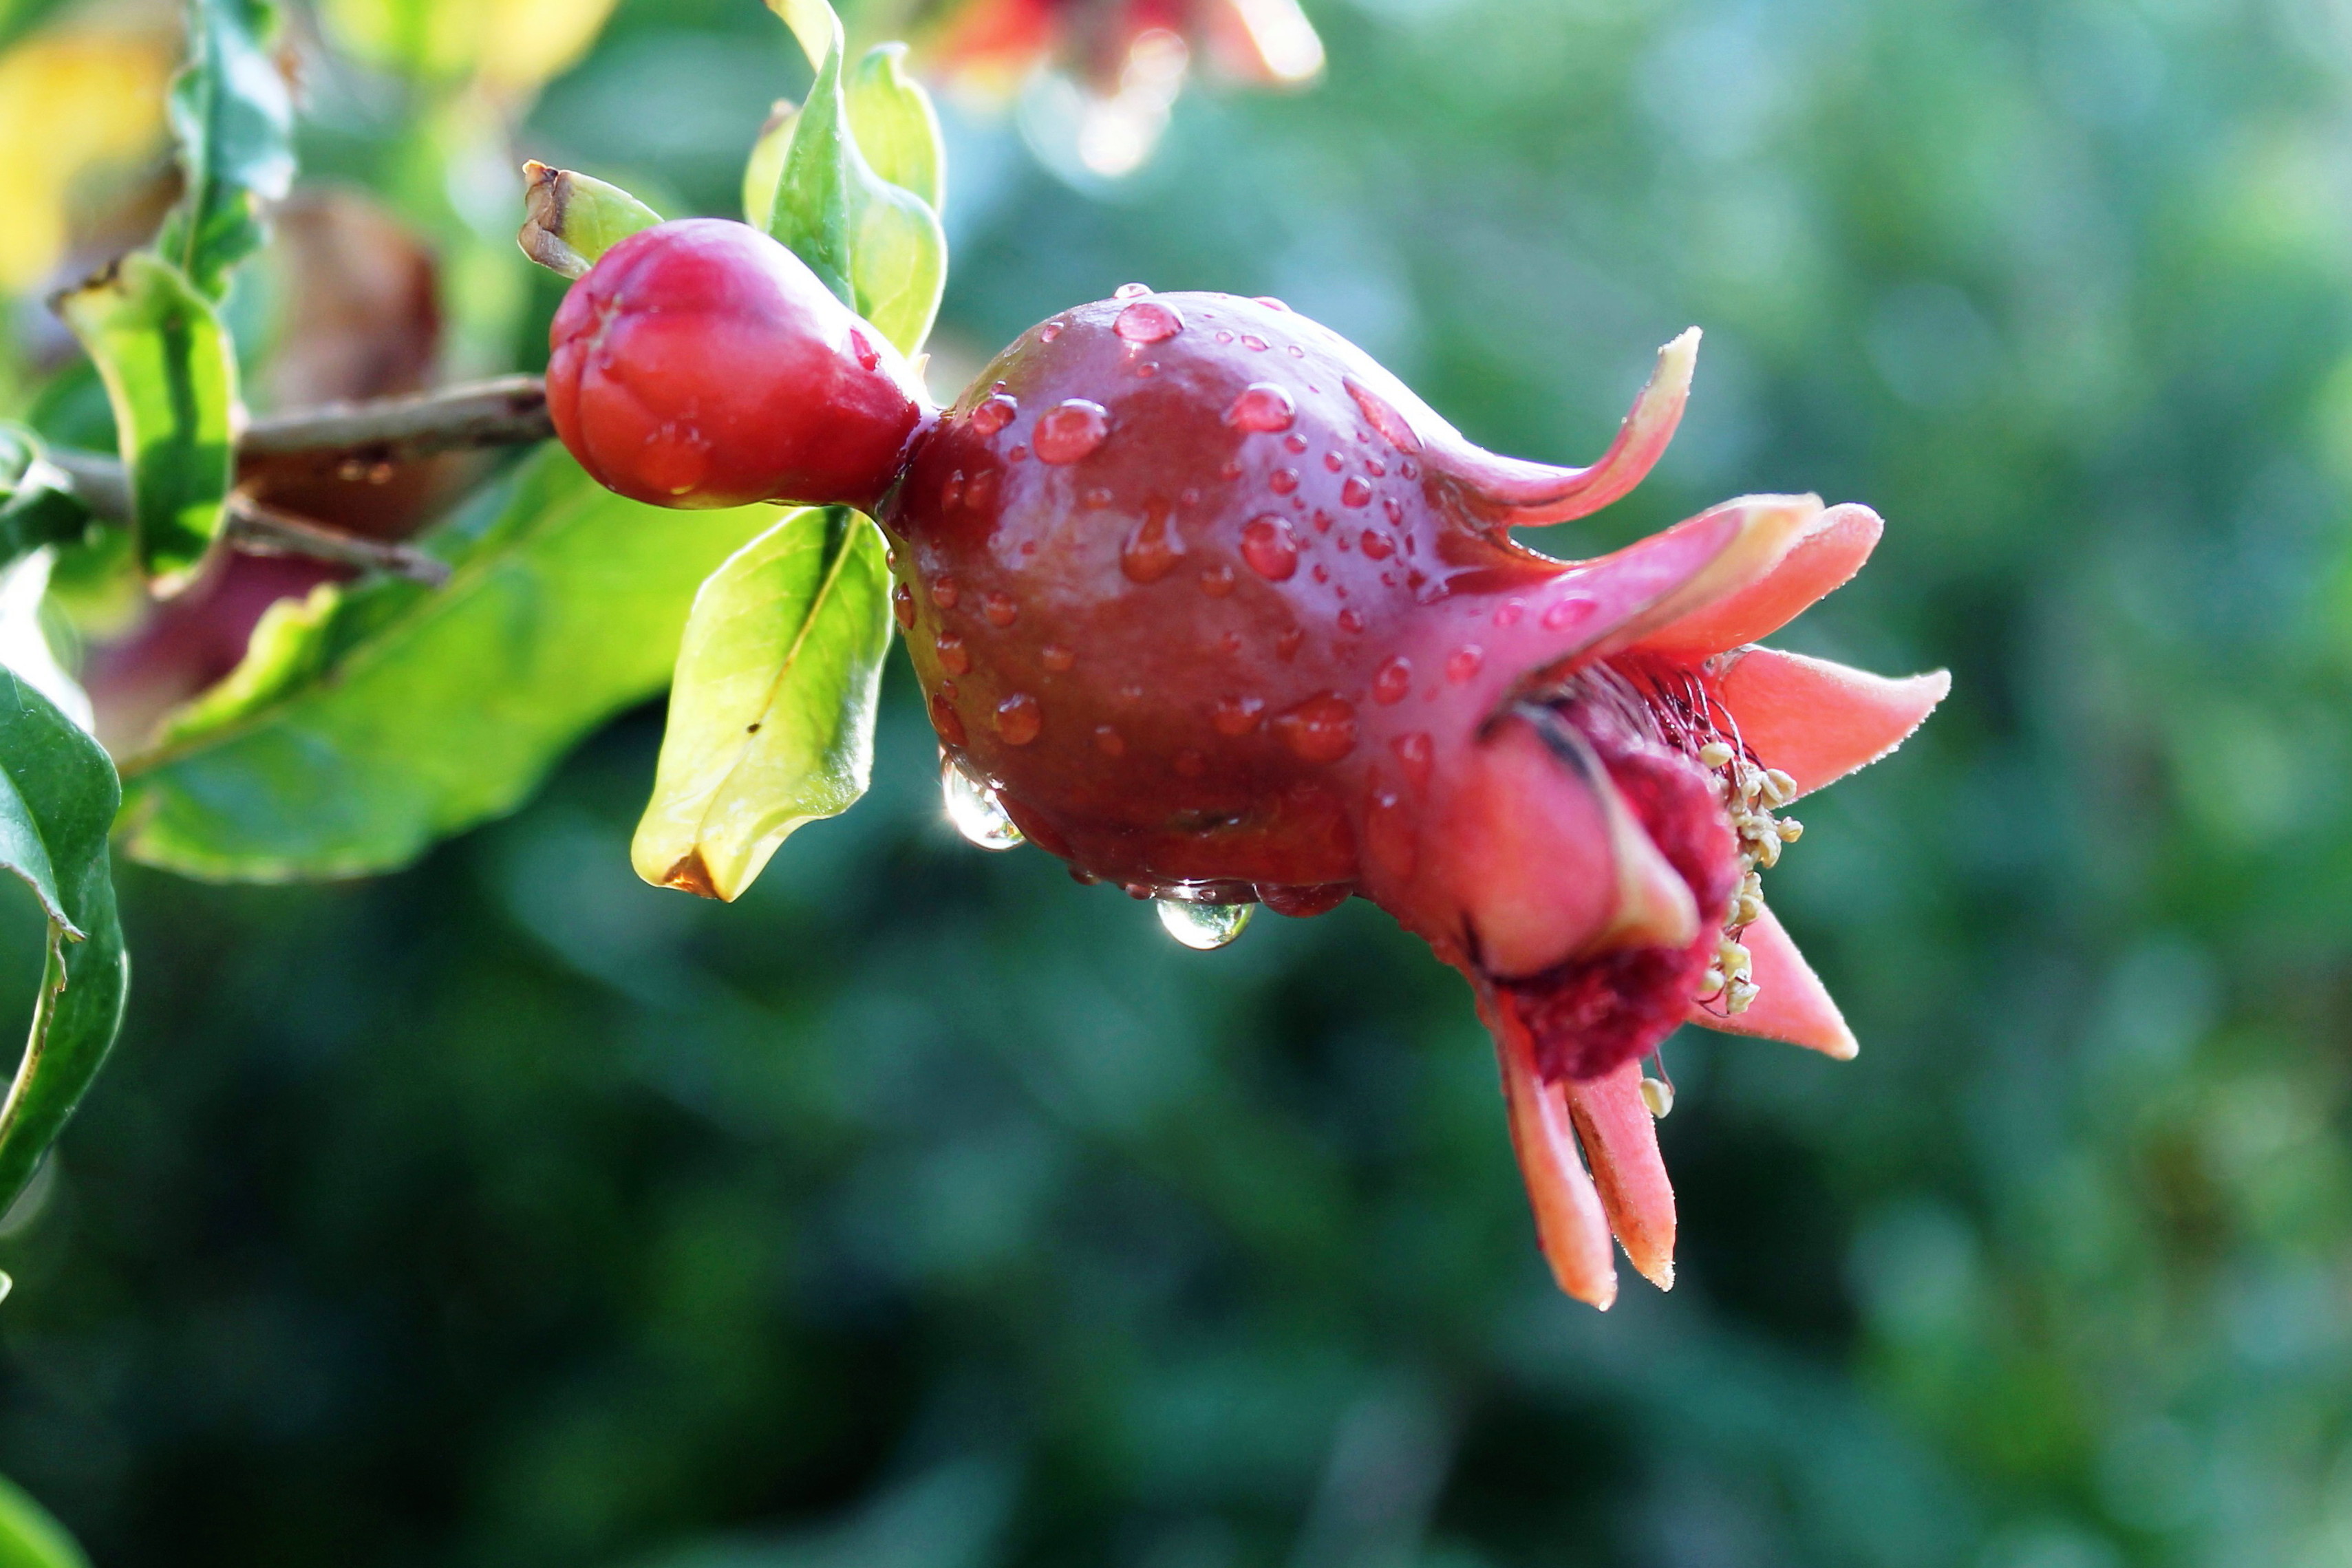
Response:
[{"label": "narrow wavy green leaf at top edge, above the curled leaf on the twig", "polygon": [[266,0],[188,0],[188,63],[169,103],[186,183],[155,249],[212,299],[261,247],[263,205],[294,186],[294,101],[270,59],[275,35]]}]

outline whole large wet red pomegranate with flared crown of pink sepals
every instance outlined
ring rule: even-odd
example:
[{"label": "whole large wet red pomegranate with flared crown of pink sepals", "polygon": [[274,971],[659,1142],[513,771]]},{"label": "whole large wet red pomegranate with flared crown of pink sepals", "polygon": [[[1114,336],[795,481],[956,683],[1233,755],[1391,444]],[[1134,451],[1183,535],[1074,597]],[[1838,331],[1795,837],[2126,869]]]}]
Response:
[{"label": "whole large wet red pomegranate with flared crown of pink sepals", "polygon": [[1510,538],[1642,480],[1696,343],[1548,468],[1279,301],[1129,284],[997,355],[880,512],[964,816],[1192,945],[1254,900],[1390,910],[1472,983],[1543,1251],[1597,1305],[1611,1232],[1672,1279],[1668,1032],[1853,1053],[1762,872],[1780,809],[1947,686],[1748,646],[1853,576],[1865,508],[1750,496],[1592,562]]}]

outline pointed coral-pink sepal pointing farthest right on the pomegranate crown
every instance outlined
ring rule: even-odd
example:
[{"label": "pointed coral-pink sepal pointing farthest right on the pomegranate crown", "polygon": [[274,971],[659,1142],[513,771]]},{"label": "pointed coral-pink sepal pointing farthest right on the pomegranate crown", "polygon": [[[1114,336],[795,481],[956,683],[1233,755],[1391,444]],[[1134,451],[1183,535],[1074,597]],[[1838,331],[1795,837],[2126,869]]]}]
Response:
[{"label": "pointed coral-pink sepal pointing farthest right on the pomegranate crown", "polygon": [[1757,762],[1809,795],[1903,745],[1952,689],[1947,670],[1889,679],[1778,649],[1736,649],[1700,670]]}]

